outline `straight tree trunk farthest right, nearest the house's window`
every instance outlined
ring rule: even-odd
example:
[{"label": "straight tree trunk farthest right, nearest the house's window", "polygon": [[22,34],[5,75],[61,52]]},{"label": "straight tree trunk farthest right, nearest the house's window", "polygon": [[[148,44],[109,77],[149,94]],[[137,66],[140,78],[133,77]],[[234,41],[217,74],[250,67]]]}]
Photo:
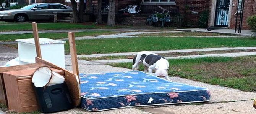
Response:
[{"label": "straight tree trunk farthest right, nearest the house's window", "polygon": [[109,0],[107,25],[115,26],[115,0]]}]

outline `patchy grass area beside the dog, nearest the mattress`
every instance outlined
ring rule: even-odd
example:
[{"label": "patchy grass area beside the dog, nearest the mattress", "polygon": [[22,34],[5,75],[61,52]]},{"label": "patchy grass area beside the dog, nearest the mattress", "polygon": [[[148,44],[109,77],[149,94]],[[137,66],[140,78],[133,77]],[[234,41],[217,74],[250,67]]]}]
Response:
[{"label": "patchy grass area beside the dog, nearest the mattress", "polygon": [[[205,57],[198,59],[169,59],[169,76],[193,79],[214,85],[256,92],[256,56]],[[110,64],[132,67],[132,63]],[[143,70],[141,65],[139,70]]]}]

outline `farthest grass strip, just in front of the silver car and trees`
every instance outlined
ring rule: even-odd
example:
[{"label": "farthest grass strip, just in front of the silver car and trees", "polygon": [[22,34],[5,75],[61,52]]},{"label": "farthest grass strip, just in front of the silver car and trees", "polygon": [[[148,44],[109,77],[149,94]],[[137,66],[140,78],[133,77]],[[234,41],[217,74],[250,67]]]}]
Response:
[{"label": "farthest grass strip, just in front of the silver car and trees", "polygon": [[[31,23],[16,24],[8,23],[9,25],[1,25],[0,32],[3,31],[22,31],[22,30],[32,30]],[[38,30],[73,30],[73,29],[115,29],[115,28],[127,28],[131,26],[117,25],[115,27],[110,27],[107,25],[95,25],[95,24],[73,24],[73,23],[37,23]]]}]

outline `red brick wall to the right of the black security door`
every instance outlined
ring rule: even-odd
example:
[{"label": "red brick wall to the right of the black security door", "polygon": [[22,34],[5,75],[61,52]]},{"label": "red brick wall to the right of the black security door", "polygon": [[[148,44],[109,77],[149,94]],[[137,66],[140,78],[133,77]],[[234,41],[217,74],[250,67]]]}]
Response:
[{"label": "red brick wall to the right of the black security door", "polygon": [[[232,12],[231,12],[231,20],[230,20],[230,28],[235,29],[235,22],[236,22],[236,16],[234,14],[237,11],[237,0],[233,0],[234,6],[232,6]],[[250,27],[248,26],[246,19],[253,15],[256,14],[256,0],[245,0],[245,8],[244,8],[244,13],[243,13],[243,25],[242,29],[243,30],[250,30]]]}]

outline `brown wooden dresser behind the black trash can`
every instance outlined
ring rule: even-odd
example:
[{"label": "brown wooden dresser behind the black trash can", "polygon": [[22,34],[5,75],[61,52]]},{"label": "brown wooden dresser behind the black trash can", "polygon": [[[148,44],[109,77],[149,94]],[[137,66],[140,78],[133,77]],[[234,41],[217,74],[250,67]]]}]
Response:
[{"label": "brown wooden dresser behind the black trash can", "polygon": [[[51,68],[64,75],[64,71]],[[39,109],[32,86],[32,75],[36,69],[3,72],[8,107],[17,112],[32,112]]]}]

